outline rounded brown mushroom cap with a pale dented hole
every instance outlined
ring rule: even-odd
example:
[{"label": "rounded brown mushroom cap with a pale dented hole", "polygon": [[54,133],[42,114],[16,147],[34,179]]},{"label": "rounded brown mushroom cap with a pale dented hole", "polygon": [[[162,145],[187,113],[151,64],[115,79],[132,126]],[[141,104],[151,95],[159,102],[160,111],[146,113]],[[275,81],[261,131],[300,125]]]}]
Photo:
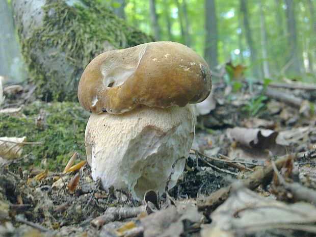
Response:
[{"label": "rounded brown mushroom cap with a pale dented hole", "polygon": [[167,108],[198,103],[211,88],[203,58],[185,45],[163,41],[98,55],[82,74],[78,99],[93,113],[121,114],[138,104]]}]

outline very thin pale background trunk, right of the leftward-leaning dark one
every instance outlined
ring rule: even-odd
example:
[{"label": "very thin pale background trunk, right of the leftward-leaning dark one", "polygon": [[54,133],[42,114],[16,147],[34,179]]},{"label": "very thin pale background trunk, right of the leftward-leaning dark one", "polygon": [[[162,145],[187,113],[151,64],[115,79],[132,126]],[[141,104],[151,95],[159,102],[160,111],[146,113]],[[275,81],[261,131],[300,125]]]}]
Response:
[{"label": "very thin pale background trunk, right of the leftward-leaning dark one", "polygon": [[270,70],[268,63],[268,50],[267,50],[267,30],[266,30],[266,22],[265,22],[265,14],[264,9],[261,4],[261,0],[259,1],[260,8],[260,33],[261,33],[261,50],[262,50],[262,66],[264,68],[264,76],[265,78],[270,78]]}]

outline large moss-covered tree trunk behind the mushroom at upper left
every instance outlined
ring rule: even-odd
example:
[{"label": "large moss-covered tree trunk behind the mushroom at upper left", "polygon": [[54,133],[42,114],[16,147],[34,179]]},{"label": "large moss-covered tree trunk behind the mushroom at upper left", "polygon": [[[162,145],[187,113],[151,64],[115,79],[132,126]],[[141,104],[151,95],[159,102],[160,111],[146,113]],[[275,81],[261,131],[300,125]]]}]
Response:
[{"label": "large moss-covered tree trunk behind the mushroom at upper left", "polygon": [[38,95],[76,100],[85,66],[103,51],[152,41],[89,0],[12,0],[22,54]]}]

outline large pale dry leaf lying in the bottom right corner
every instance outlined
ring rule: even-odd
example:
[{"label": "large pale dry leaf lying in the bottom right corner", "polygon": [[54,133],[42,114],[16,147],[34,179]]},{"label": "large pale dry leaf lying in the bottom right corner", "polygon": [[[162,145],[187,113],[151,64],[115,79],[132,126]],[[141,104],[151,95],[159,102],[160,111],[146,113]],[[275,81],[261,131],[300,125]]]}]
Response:
[{"label": "large pale dry leaf lying in the bottom right corner", "polygon": [[[316,233],[316,208],[307,203],[285,204],[264,198],[248,189],[232,192],[230,197],[210,214],[212,224],[201,231],[206,236],[256,236],[262,231],[288,229]],[[216,235],[219,232],[225,235]],[[282,233],[281,233],[282,232]]]}]

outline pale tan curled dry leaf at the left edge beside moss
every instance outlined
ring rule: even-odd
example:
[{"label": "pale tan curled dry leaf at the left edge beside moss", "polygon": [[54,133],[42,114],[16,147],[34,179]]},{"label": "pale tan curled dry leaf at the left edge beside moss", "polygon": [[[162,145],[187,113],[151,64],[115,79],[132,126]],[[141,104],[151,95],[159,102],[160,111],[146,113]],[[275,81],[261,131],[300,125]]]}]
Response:
[{"label": "pale tan curled dry leaf at the left edge beside moss", "polygon": [[4,159],[17,159],[21,156],[23,142],[27,137],[2,137],[0,138],[0,156]]}]

